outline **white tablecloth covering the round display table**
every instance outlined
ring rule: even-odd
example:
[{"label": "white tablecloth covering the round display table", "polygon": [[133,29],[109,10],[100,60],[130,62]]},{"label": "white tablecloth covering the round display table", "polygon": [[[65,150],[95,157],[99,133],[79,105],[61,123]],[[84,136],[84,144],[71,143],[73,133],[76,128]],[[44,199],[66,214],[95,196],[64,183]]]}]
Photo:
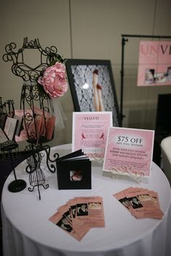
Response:
[{"label": "white tablecloth covering the round display table", "polygon": [[[53,148],[60,155],[70,152],[70,144]],[[28,183],[26,163],[16,168],[17,178]],[[160,168],[153,163],[151,178],[135,183],[128,178],[116,180],[102,175],[101,165],[92,163],[91,190],[58,190],[57,173],[50,173],[43,160],[41,167],[49,189],[30,192],[28,187],[18,193],[8,191],[13,173],[4,184],[1,197],[4,256],[170,256],[171,255],[171,193],[170,184]],[[129,186],[157,191],[164,212],[162,220],[137,220],[112,194]],[[49,217],[68,199],[100,196],[104,199],[104,228],[91,228],[77,241],[49,221]]]}]

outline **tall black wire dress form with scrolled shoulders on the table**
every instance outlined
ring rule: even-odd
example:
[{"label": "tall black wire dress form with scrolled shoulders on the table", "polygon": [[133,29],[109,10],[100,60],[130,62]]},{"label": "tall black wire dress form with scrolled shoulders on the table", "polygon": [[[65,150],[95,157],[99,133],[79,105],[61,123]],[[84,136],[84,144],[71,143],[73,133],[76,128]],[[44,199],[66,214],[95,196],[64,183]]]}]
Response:
[{"label": "tall black wire dress form with scrolled shoulders on the table", "polygon": [[[38,85],[37,80],[40,77],[43,70],[55,62],[56,59],[61,59],[62,57],[57,54],[56,46],[46,47],[42,49],[38,38],[34,41],[28,41],[28,38],[24,38],[22,48],[15,51],[16,44],[11,43],[7,44],[5,47],[6,53],[3,55],[4,62],[13,62],[12,73],[19,76],[23,80],[22,93],[20,97],[20,109],[23,110],[24,117],[24,126],[25,131],[28,137],[28,146],[27,149],[33,152],[33,155],[30,156],[28,160],[28,167],[26,171],[29,173],[30,178],[34,177],[33,180],[30,180],[30,185],[43,186],[44,189],[48,188],[48,184],[45,185],[45,177],[43,171],[40,168],[40,162],[42,158],[42,152],[46,152],[46,165],[51,173],[56,171],[54,162],[59,157],[59,154],[54,154],[54,159],[50,158],[50,146],[43,145],[51,139],[48,139],[47,136],[47,126],[46,126],[46,115],[54,115],[54,108],[49,96],[43,91],[43,88]],[[24,51],[26,49],[37,50],[40,54],[40,64],[36,67],[30,67],[25,64]],[[45,131],[43,136],[38,134],[38,128],[36,125],[36,109],[41,110],[43,115],[43,123]],[[28,111],[29,110],[29,111]],[[53,138],[52,138],[53,139]],[[34,163],[33,163],[34,162]],[[36,176],[33,176],[33,171],[36,170]],[[36,181],[36,178],[38,180]],[[31,191],[31,189],[29,189]],[[40,193],[39,193],[39,198]]]}]

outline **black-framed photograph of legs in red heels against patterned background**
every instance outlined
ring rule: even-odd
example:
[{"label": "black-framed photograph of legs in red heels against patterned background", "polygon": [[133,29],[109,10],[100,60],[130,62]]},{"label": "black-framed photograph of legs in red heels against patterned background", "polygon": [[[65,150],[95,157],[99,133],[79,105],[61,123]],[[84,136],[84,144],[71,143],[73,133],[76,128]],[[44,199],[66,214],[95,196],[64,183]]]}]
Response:
[{"label": "black-framed photograph of legs in red heels against patterned background", "polygon": [[120,126],[110,60],[67,59],[66,69],[75,112],[112,111],[113,125]]}]

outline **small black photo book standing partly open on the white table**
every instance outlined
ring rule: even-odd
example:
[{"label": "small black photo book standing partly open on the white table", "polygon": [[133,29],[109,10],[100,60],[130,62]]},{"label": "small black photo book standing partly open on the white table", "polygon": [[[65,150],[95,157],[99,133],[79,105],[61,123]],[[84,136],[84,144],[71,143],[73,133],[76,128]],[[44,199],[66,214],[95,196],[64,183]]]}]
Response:
[{"label": "small black photo book standing partly open on the white table", "polygon": [[59,189],[91,189],[91,160],[81,149],[59,157],[56,163]]}]

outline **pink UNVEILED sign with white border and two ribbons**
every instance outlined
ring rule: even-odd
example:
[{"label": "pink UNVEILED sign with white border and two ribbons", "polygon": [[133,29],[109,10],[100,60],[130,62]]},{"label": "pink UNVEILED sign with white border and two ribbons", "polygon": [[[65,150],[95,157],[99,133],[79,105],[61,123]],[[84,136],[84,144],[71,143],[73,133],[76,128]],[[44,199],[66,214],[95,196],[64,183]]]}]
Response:
[{"label": "pink UNVEILED sign with white border and two ribbons", "polygon": [[112,112],[73,112],[72,152],[82,149],[90,157],[104,158]]}]

